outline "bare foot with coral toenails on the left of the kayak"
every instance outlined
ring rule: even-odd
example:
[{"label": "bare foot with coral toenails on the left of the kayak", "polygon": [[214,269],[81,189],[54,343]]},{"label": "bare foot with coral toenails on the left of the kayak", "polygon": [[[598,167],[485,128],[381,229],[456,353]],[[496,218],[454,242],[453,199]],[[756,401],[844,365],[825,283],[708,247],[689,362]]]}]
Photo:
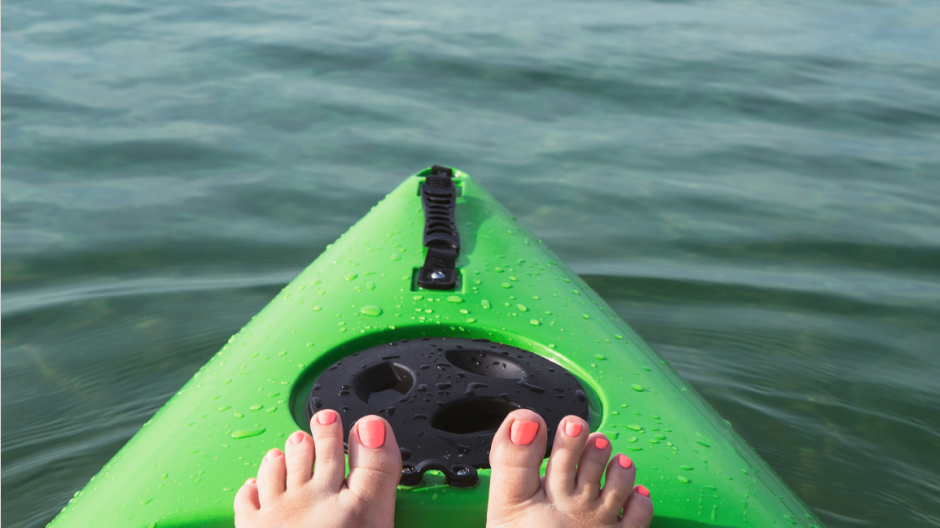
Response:
[{"label": "bare foot with coral toenails on the left of the kayak", "polygon": [[297,431],[284,452],[265,455],[258,478],[235,496],[235,526],[391,527],[401,452],[388,422],[366,416],[353,426],[348,477],[339,414],[318,412],[310,431],[313,437]]}]

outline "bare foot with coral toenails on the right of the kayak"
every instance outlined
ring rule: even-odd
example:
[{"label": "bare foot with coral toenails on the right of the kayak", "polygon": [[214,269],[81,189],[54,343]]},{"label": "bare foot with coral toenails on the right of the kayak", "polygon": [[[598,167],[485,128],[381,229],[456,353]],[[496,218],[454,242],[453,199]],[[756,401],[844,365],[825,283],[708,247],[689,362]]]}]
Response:
[{"label": "bare foot with coral toenails on the right of the kayak", "polygon": [[523,409],[510,413],[496,432],[487,528],[649,526],[653,503],[649,490],[634,487],[636,466],[626,455],[611,459],[610,441],[589,434],[581,418],[562,419],[541,478],[547,430],[541,416]]}]

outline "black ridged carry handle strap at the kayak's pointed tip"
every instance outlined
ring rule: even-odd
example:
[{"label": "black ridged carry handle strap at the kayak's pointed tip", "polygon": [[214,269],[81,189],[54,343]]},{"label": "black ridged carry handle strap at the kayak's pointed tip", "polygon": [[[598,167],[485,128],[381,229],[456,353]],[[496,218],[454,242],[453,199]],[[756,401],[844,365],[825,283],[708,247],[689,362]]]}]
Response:
[{"label": "black ridged carry handle strap at the kayak's pointed tip", "polygon": [[457,286],[454,266],[460,252],[460,235],[454,223],[457,186],[453,178],[453,170],[434,165],[421,186],[428,255],[418,270],[418,286],[430,290],[452,290]]}]

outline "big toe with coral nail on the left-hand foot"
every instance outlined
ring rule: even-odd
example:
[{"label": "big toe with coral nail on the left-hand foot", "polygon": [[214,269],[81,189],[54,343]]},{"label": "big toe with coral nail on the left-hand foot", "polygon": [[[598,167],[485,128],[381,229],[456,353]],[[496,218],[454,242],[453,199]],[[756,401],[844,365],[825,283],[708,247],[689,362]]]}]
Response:
[{"label": "big toe with coral nail on the left-hand foot", "polygon": [[401,450],[392,426],[366,416],[349,431],[349,476],[346,485],[365,504],[395,500],[401,481]]}]

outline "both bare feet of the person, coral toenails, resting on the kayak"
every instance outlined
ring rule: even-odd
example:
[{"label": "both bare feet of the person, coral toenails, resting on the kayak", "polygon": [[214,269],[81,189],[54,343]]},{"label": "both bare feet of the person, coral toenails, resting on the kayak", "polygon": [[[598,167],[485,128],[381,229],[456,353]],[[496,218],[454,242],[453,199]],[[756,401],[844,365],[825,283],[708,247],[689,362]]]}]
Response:
[{"label": "both bare feet of the person, coral toenails, resting on the kayak", "polygon": [[[265,455],[258,478],[248,479],[235,496],[235,526],[391,527],[401,454],[388,422],[366,416],[353,426],[348,476],[339,414],[320,411],[310,429],[312,437],[297,431],[283,452]],[[546,431],[545,421],[527,410],[510,413],[497,431],[488,528],[649,526],[653,504],[646,488],[634,486],[636,466],[625,455],[611,459],[610,442],[590,434],[580,418],[559,424],[541,477]]]}]

